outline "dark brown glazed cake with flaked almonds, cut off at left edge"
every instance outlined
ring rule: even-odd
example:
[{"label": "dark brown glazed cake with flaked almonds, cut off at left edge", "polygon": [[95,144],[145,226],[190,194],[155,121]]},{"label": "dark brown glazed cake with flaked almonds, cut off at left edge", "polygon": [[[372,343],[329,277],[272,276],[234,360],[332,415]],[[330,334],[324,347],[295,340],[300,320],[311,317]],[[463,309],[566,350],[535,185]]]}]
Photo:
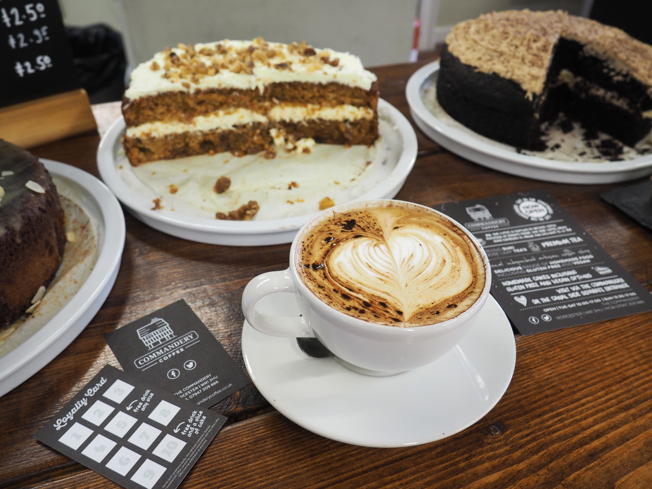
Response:
[{"label": "dark brown glazed cake with flaked almonds, cut off at left edge", "polygon": [[0,328],[38,301],[63,258],[64,215],[50,173],[0,140]]}]

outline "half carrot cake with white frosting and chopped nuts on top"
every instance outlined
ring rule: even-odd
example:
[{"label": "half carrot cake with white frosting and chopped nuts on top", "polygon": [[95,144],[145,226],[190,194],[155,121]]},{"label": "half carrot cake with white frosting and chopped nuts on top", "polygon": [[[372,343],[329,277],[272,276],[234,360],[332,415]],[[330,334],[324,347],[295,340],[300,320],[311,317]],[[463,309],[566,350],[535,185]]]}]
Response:
[{"label": "half carrot cake with white frosting and chopped nuts on top", "polygon": [[376,76],[349,53],[300,44],[179,44],[131,75],[123,99],[132,165],[231,151],[247,155],[311,138],[372,145]]}]

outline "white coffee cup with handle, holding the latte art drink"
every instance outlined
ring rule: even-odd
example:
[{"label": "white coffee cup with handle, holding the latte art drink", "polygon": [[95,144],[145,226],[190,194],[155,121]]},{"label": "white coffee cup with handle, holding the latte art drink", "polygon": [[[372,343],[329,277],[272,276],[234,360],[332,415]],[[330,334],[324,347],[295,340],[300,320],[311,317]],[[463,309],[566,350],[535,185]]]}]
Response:
[{"label": "white coffee cup with handle, holding the latte art drink", "polygon": [[[484,261],[485,281],[482,293],[467,310],[454,318],[417,327],[394,327],[363,321],[323,303],[303,283],[295,267],[297,243],[304,231],[321,222],[325,215],[343,213],[361,207],[386,205],[387,200],[357,201],[327,209],[307,222],[297,233],[290,248],[289,268],[258,275],[244,288],[244,318],[257,331],[270,336],[318,338],[336,359],[356,372],[383,376],[398,374],[434,362],[450,351],[471,329],[486,302],[491,288],[489,260],[473,235],[446,215],[411,202],[393,201],[435,213],[455,224],[474,243]],[[256,303],[271,293],[294,293],[301,317],[273,316],[256,309]]]}]

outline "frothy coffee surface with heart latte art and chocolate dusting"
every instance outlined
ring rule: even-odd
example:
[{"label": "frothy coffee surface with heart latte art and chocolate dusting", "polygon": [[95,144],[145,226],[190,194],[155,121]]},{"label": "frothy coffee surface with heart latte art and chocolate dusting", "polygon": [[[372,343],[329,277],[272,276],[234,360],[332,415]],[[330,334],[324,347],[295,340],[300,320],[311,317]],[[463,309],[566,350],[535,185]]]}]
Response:
[{"label": "frothy coffee surface with heart latte art and chocolate dusting", "polygon": [[336,213],[299,244],[304,284],[336,310],[373,323],[439,323],[467,310],[484,288],[484,261],[464,231],[408,204]]}]

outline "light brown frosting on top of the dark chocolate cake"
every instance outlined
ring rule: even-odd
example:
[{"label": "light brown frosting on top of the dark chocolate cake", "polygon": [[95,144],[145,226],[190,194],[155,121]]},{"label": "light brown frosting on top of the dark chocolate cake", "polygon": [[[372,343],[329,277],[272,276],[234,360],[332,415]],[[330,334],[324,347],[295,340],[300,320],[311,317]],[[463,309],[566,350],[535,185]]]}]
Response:
[{"label": "light brown frosting on top of the dark chocolate cake", "polygon": [[462,63],[513,80],[532,96],[543,91],[560,37],[585,44],[587,54],[652,85],[652,46],[621,29],[561,11],[492,12],[455,25],[446,44]]}]

